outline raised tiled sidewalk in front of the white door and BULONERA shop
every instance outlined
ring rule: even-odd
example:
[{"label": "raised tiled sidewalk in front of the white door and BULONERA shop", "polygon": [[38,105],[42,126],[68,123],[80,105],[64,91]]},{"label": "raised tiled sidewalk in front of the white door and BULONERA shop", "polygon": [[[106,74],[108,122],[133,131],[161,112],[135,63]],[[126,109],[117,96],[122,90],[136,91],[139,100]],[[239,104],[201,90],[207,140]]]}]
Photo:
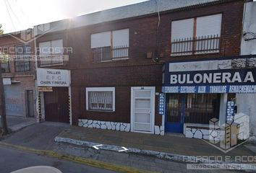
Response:
[{"label": "raised tiled sidewalk in front of the white door and BULONERA shop", "polygon": [[[77,126],[63,130],[55,141],[85,146],[104,144],[127,148],[137,148],[144,151],[157,151],[184,156],[255,156],[255,153],[244,146],[239,146],[224,154],[205,141],[180,136],[155,136],[145,133],[126,133],[115,130],[81,128]],[[92,143],[90,145],[90,143]],[[105,149],[108,149],[106,147]]]}]

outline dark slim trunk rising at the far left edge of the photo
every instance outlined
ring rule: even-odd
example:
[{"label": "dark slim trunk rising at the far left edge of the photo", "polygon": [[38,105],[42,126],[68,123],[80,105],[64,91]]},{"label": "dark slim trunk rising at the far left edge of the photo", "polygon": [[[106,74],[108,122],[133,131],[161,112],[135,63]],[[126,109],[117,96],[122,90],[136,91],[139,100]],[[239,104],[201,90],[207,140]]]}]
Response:
[{"label": "dark slim trunk rising at the far left edge of the photo", "polygon": [[[0,53],[1,56],[1,53]],[[1,57],[0,57],[0,115],[1,115],[1,128],[2,133],[1,135],[7,135],[8,128],[7,128],[7,111],[5,107],[5,97],[4,97],[4,83],[3,78],[1,76]]]}]

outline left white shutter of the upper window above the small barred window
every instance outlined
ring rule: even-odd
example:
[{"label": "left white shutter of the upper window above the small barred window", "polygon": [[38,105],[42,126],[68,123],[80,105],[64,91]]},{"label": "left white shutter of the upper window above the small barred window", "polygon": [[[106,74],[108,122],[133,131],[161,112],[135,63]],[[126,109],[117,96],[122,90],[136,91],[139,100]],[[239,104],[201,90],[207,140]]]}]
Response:
[{"label": "left white shutter of the upper window above the small barred window", "polygon": [[111,32],[101,32],[90,35],[90,47],[102,48],[111,46]]}]

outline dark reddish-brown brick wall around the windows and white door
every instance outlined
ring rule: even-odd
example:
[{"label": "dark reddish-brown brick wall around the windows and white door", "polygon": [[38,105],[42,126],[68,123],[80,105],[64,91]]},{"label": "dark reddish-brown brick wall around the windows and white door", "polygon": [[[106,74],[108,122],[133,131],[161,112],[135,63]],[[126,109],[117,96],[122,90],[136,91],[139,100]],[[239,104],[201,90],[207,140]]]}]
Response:
[{"label": "dark reddish-brown brick wall around the windows and white door", "polygon": [[[172,20],[219,13],[223,14],[220,53],[199,56],[170,56]],[[242,1],[161,14],[158,42],[156,42],[157,16],[107,22],[69,30],[67,43],[74,50],[69,57],[69,68],[72,71],[73,124],[77,124],[78,118],[129,123],[131,86],[156,86],[156,92],[161,92],[161,64],[164,61],[239,55],[242,14]],[[126,28],[129,28],[129,60],[93,63],[90,58],[90,35]],[[155,49],[158,50],[159,54],[162,54],[160,63],[154,63],[152,59],[146,58],[146,53],[154,52]],[[92,86],[116,87],[115,112],[85,110],[85,87]],[[155,100],[155,110],[157,110],[158,98],[156,97]],[[161,125],[161,116],[158,115],[157,111],[155,112],[155,124]]]}]

